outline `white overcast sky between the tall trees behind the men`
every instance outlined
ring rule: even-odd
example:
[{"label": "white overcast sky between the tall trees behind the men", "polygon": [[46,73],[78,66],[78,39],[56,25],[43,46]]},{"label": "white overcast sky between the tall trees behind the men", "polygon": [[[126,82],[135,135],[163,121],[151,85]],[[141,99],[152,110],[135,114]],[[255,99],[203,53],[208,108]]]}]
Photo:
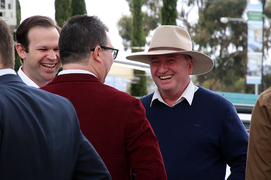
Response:
[{"label": "white overcast sky between the tall trees behind the men", "polygon": [[[55,19],[55,0],[19,0],[21,6],[21,18],[23,21],[25,18],[34,15],[49,16]],[[88,15],[96,15],[110,29],[109,36],[114,48],[119,49],[117,59],[124,60],[127,54],[130,54],[128,50],[123,50],[122,39],[119,36],[118,29],[116,27],[117,20],[122,14],[130,14],[129,5],[126,0],[85,0],[86,10]]]}]

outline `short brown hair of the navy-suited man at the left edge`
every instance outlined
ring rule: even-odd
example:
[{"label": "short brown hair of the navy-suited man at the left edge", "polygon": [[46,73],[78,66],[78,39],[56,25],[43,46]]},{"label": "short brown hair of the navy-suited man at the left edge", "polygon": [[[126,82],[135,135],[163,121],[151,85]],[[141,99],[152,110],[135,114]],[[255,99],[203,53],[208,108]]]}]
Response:
[{"label": "short brown hair of the navy-suited man at the left edge", "polygon": [[0,56],[4,68],[14,69],[14,39],[11,28],[0,18]]}]

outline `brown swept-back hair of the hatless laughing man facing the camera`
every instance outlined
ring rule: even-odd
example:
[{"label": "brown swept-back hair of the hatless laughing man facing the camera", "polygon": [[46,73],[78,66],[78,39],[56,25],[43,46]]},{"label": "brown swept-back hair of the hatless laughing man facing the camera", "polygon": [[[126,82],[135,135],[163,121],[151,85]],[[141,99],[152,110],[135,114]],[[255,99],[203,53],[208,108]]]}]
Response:
[{"label": "brown swept-back hair of the hatless laughing man facing the camera", "polygon": [[[48,16],[31,16],[26,18],[16,30],[17,43],[20,43],[24,48],[25,52],[29,52],[29,37],[28,33],[31,28],[56,28],[60,34],[61,28],[58,23]],[[23,61],[23,59],[21,59]]]}]

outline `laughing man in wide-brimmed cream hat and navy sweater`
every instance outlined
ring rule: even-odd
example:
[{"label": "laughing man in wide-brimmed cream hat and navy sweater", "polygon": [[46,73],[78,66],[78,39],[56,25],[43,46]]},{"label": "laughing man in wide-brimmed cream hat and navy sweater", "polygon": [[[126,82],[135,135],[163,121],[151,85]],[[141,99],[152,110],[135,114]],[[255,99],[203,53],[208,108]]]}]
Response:
[{"label": "laughing man in wide-brimmed cream hat and navy sweater", "polygon": [[229,179],[245,179],[248,133],[229,100],[191,81],[210,71],[213,60],[192,50],[189,33],[159,26],[148,52],[126,59],[150,64],[157,89],[140,100],[168,180],[224,180],[227,164]]}]

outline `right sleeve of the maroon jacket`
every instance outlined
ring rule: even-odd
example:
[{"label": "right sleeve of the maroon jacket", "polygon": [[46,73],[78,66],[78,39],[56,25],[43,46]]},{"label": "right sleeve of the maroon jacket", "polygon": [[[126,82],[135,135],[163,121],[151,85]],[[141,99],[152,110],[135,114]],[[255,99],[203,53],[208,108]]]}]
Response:
[{"label": "right sleeve of the maroon jacket", "polygon": [[158,140],[146,118],[145,109],[135,99],[130,109],[126,134],[126,157],[137,180],[167,179]]}]

